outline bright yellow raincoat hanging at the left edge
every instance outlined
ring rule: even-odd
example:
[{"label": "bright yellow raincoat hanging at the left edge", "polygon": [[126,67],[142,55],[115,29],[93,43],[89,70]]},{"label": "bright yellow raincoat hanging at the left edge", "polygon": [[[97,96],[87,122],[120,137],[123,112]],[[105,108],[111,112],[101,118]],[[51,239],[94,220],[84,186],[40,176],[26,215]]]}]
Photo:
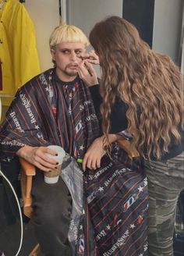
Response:
[{"label": "bright yellow raincoat hanging at the left edge", "polygon": [[[34,24],[17,0],[7,0],[0,9],[0,62],[2,96],[13,97],[19,87],[40,73]],[[2,105],[9,105],[10,101],[3,97]]]}]

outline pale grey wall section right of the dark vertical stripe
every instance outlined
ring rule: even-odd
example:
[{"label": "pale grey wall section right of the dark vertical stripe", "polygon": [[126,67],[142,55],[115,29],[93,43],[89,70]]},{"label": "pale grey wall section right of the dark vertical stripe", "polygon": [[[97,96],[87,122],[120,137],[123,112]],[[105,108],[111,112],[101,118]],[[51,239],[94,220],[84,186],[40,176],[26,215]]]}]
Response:
[{"label": "pale grey wall section right of the dark vertical stripe", "polygon": [[179,60],[183,0],[154,1],[153,49]]}]

